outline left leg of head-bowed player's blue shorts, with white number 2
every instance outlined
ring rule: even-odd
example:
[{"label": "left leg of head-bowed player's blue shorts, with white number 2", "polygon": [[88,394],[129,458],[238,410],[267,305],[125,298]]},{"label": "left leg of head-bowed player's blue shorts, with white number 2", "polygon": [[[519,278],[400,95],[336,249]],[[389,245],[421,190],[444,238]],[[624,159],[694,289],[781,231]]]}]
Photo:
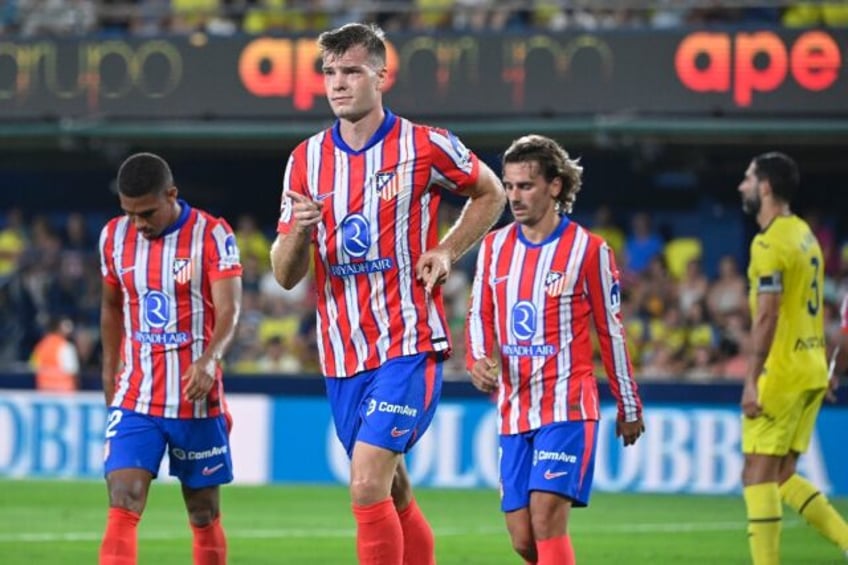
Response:
[{"label": "left leg of head-bowed player's blue shorts, with white number 2", "polygon": [[103,472],[142,469],[155,477],[167,439],[156,418],[124,408],[111,408],[106,421]]}]

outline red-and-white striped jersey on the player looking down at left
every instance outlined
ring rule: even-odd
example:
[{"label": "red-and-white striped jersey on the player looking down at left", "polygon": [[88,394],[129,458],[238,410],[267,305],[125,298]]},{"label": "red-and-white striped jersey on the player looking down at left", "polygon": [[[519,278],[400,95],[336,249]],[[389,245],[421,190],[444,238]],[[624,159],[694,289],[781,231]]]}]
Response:
[{"label": "red-and-white striped jersey on the player looking down at left", "polygon": [[182,397],[181,378],[212,336],[211,283],[241,276],[239,251],[226,221],[180,201],[177,222],[143,237],[127,216],[100,233],[103,283],[120,287],[122,366],[112,406],[165,418],[208,418],[224,409],[221,371],[204,400]]}]

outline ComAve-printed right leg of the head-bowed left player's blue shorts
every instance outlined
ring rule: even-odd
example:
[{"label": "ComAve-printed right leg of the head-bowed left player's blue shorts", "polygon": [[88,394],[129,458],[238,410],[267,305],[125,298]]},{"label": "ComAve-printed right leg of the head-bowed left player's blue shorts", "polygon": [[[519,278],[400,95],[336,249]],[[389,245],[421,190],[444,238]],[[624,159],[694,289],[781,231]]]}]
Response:
[{"label": "ComAve-printed right leg of the head-bowed left player's blue shorts", "polygon": [[227,419],[163,418],[167,432],[170,474],[193,489],[233,480],[233,459]]}]

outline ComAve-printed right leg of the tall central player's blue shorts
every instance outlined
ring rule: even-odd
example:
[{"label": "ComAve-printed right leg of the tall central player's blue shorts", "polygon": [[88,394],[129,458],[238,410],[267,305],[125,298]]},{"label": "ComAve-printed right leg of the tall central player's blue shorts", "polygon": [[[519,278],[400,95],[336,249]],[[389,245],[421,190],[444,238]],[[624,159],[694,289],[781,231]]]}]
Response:
[{"label": "ComAve-printed right leg of the tall central player's blue shorts", "polygon": [[433,421],[442,390],[443,358],[421,353],[390,359],[376,370],[357,441],[406,453]]}]

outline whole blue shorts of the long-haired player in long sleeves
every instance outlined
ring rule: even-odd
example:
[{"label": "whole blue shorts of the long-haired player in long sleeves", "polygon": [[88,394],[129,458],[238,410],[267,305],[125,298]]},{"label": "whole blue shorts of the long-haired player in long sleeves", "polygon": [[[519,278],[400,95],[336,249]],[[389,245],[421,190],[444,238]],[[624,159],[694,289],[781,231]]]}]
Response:
[{"label": "whole blue shorts of the long-haired player in long sleeves", "polygon": [[530,505],[530,492],[552,492],[576,507],[589,504],[598,423],[558,422],[500,436],[501,510]]}]

